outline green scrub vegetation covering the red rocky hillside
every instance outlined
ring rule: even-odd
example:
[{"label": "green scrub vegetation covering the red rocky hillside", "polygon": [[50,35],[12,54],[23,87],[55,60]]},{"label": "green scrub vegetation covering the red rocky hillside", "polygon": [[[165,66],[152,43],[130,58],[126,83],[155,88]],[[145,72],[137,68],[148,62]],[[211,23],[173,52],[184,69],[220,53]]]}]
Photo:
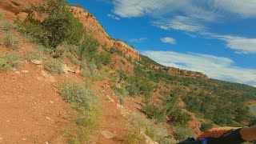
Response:
[{"label": "green scrub vegetation covering the red rocky hillside", "polygon": [[[90,85],[102,80],[110,81],[121,105],[128,97],[142,99],[138,101],[139,110],[127,116],[130,130],[123,140],[126,143],[145,142],[144,135],[160,143],[194,137],[200,131],[189,126],[192,121],[201,123],[200,130],[207,130],[213,126],[246,126],[256,119],[248,105],[256,99],[253,86],[189,75],[183,70],[170,74],[169,67],[142,54],[140,60],[128,57],[89,34],[62,0],[46,0],[40,6],[31,6],[31,10],[24,21],[17,18],[14,23],[0,23],[4,34],[1,45],[8,49],[0,56],[0,70],[19,66],[20,59],[40,61],[51,74],[63,74],[67,63],[77,67],[87,85],[58,86],[63,99],[81,114],[76,122],[80,130],[75,136],[69,135],[70,143],[88,142],[97,130],[100,102]],[[35,46],[25,56],[19,51],[20,37]],[[120,68],[112,70],[110,66]]]}]

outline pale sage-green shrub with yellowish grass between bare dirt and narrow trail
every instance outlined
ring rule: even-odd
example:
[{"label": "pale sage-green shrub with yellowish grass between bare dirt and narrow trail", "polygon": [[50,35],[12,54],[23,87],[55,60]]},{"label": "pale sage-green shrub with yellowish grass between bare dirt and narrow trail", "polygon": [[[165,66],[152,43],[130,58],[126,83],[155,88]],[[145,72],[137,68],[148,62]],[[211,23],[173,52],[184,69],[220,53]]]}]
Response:
[{"label": "pale sage-green shrub with yellowish grass between bare dirt and narrow trail", "polygon": [[93,130],[98,128],[98,118],[100,109],[98,99],[95,97],[88,86],[79,83],[65,84],[58,88],[64,100],[69,102],[80,114],[76,123],[82,127],[82,130],[74,138],[70,138],[70,142],[84,143],[88,140]]}]

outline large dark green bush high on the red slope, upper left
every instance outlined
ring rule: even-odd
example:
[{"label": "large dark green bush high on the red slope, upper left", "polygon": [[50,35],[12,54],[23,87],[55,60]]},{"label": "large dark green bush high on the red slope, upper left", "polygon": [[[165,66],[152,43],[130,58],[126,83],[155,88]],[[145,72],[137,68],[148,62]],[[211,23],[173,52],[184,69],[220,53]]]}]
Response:
[{"label": "large dark green bush high on the red slope, upper left", "polygon": [[55,48],[65,41],[78,44],[85,34],[82,23],[74,18],[64,0],[46,0],[41,6],[31,8],[48,16],[39,21],[33,18],[33,14],[29,14],[24,22],[16,23],[23,34],[36,38],[45,46]]}]

